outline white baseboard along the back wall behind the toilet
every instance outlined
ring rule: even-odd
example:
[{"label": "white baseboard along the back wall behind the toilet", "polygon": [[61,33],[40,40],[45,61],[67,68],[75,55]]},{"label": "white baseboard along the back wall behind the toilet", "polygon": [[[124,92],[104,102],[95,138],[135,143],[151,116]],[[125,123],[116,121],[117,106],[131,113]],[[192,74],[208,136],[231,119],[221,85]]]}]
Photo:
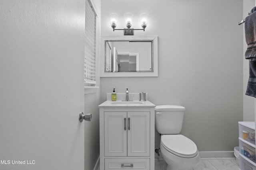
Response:
[{"label": "white baseboard along the back wall behind the toilet", "polygon": [[[155,158],[163,158],[162,153],[159,152],[160,156],[155,154]],[[206,152],[199,152],[201,158],[226,158],[226,157],[235,157],[234,151],[206,151]]]}]

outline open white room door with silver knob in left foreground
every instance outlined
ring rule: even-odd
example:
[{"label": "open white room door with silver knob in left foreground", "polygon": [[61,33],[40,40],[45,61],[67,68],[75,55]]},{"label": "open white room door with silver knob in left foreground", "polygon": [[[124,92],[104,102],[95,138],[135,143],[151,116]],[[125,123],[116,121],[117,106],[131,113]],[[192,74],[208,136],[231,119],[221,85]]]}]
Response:
[{"label": "open white room door with silver knob in left foreground", "polygon": [[84,0],[0,4],[0,169],[84,170]]}]

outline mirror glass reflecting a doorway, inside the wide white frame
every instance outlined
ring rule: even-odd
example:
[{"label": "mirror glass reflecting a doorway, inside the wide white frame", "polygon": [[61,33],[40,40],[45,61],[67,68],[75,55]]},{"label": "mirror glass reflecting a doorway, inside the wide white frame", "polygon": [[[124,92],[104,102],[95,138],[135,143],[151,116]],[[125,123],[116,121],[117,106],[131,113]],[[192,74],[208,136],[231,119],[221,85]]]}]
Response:
[{"label": "mirror glass reflecting a doorway, inside the wide white frame", "polygon": [[153,72],[152,40],[105,40],[105,72]]}]

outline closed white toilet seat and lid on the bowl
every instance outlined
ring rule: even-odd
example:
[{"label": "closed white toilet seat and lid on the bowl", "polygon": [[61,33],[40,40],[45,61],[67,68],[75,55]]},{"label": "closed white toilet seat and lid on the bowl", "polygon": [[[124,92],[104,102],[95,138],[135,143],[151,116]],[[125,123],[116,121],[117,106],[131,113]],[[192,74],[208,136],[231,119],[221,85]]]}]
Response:
[{"label": "closed white toilet seat and lid on the bowl", "polygon": [[161,144],[168,152],[183,158],[192,158],[198,154],[196,144],[183,135],[162,135]]}]

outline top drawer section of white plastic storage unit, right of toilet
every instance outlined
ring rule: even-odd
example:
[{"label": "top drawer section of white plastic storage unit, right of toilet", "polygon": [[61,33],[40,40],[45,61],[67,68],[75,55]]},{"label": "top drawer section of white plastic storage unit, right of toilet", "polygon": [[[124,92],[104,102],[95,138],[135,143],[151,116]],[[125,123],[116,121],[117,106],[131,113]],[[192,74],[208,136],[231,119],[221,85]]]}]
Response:
[{"label": "top drawer section of white plastic storage unit, right of toilet", "polygon": [[239,137],[255,145],[255,122],[239,121]]}]

